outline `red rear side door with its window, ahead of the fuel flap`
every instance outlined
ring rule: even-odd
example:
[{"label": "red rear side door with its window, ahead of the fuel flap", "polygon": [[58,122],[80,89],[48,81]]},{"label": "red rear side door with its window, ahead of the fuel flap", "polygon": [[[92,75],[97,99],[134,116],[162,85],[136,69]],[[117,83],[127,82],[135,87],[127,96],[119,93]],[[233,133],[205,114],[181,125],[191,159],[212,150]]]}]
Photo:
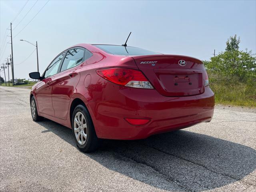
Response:
[{"label": "red rear side door with its window, ahead of the fuel flap", "polygon": [[85,49],[81,47],[67,50],[60,73],[53,80],[52,104],[54,116],[66,120],[71,96],[80,80],[80,69],[84,62]]}]

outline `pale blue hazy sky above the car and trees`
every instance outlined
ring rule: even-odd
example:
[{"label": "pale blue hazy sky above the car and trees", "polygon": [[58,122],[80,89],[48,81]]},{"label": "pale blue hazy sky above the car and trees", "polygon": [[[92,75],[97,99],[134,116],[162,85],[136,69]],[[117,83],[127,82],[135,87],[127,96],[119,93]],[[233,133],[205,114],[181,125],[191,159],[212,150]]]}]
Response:
[{"label": "pale blue hazy sky above the car and trees", "polygon": [[[37,70],[36,52],[28,58],[35,47],[20,39],[38,41],[41,73],[58,53],[69,46],[78,43],[123,44],[130,31],[128,46],[164,54],[207,60],[214,49],[216,53],[225,50],[226,40],[234,34],[241,38],[241,50],[248,48],[256,52],[255,0],[50,0],[39,13],[47,1],[39,0],[34,5],[35,2],[29,0],[13,22],[13,28],[18,25],[13,30],[13,36],[16,36],[13,39],[15,78],[28,78],[29,72]],[[0,0],[0,64],[11,53],[10,44],[6,44],[10,38],[5,41],[6,28],[25,3],[26,0]]]}]

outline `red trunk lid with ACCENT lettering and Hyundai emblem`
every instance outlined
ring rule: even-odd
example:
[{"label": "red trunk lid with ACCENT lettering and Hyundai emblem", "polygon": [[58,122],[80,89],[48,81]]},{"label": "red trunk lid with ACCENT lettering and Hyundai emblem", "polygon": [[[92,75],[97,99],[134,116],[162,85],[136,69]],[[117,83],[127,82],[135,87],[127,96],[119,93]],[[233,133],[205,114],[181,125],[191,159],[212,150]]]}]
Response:
[{"label": "red trunk lid with ACCENT lettering and Hyundai emblem", "polygon": [[132,56],[138,68],[164,96],[191,96],[204,92],[203,63],[180,55]]}]

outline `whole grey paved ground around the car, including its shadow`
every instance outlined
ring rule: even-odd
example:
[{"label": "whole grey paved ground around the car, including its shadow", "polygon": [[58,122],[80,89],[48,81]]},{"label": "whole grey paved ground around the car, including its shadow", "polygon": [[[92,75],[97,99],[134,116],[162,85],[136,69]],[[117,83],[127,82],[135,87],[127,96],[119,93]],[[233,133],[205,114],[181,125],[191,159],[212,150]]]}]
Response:
[{"label": "whole grey paved ground around the car, including its shadow", "polygon": [[69,128],[32,121],[29,92],[0,87],[0,191],[256,191],[255,110],[85,154]]}]

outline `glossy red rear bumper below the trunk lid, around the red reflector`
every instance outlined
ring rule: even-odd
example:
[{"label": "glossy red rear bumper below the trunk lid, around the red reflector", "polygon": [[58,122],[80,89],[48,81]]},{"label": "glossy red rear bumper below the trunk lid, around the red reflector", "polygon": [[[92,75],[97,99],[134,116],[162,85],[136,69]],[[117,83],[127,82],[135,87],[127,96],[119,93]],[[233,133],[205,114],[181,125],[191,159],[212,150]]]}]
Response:
[{"label": "glossy red rear bumper below the trunk lid, around the red reflector", "polygon": [[[145,94],[146,93],[146,94]],[[102,92],[104,97],[104,92]],[[156,90],[121,88],[103,102],[89,102],[99,138],[134,140],[209,122],[214,112],[214,93],[207,86],[194,96],[166,97]],[[150,119],[145,125],[131,125],[124,118]]]}]

